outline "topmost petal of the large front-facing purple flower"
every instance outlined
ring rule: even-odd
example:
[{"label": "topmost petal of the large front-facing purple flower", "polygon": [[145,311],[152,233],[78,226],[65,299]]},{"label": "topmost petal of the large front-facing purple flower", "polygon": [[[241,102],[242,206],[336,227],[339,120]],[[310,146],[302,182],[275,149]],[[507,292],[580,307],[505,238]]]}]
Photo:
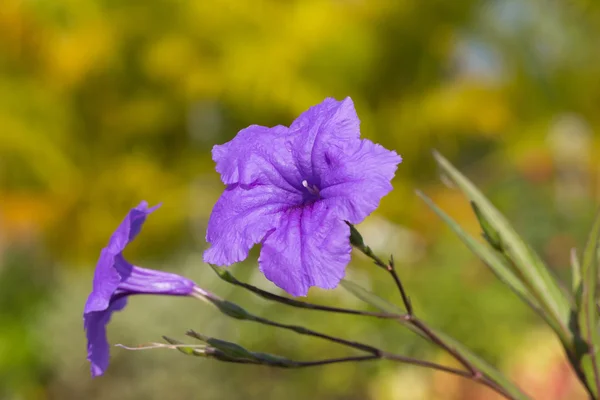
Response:
[{"label": "topmost petal of the large front-facing purple flower", "polygon": [[360,120],[352,99],[327,98],[302,113],[290,130],[295,134],[292,152],[302,179],[320,185],[332,167],[330,153],[343,153],[359,141]]}]

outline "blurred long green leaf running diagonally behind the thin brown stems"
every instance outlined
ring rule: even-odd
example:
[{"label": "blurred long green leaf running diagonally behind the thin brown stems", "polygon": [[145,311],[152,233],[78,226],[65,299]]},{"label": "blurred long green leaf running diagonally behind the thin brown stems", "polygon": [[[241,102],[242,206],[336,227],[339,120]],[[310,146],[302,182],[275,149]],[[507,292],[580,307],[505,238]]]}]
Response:
[{"label": "blurred long green leaf running diagonally behind the thin brown stems", "polygon": [[[361,299],[367,304],[372,305],[373,307],[379,309],[383,312],[388,313],[399,313],[402,312],[398,307],[389,303],[387,300],[382,299],[376,294],[368,291],[360,285],[357,285],[354,282],[348,281],[346,279],[342,279],[341,285],[344,289],[348,290],[350,293]],[[398,319],[396,320],[403,326],[409,328],[415,333],[418,333],[425,339],[429,340],[425,335],[423,335],[420,331],[418,331],[414,326],[410,325],[406,320]],[[434,333],[440,337],[443,341],[449,344],[451,347],[457,349],[461,355],[467,359],[472,365],[474,365],[478,370],[487,375],[488,378],[495,381],[497,384],[501,385],[510,395],[516,400],[529,400],[521,390],[515,386],[511,381],[509,381],[500,371],[496,368],[488,364],[486,361],[481,359],[479,356],[475,355],[471,350],[466,348],[464,345],[459,343],[456,339],[442,333],[440,331],[434,330]]]}]

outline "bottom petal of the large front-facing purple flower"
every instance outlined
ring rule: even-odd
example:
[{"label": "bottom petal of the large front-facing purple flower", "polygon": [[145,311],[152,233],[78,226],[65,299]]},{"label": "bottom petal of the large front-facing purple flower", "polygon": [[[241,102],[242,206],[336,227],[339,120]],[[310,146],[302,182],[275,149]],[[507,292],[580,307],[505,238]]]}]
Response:
[{"label": "bottom petal of the large front-facing purple flower", "polygon": [[349,235],[325,202],[290,208],[263,243],[260,269],[293,296],[306,296],[311,286],[332,289],[350,262]]}]

